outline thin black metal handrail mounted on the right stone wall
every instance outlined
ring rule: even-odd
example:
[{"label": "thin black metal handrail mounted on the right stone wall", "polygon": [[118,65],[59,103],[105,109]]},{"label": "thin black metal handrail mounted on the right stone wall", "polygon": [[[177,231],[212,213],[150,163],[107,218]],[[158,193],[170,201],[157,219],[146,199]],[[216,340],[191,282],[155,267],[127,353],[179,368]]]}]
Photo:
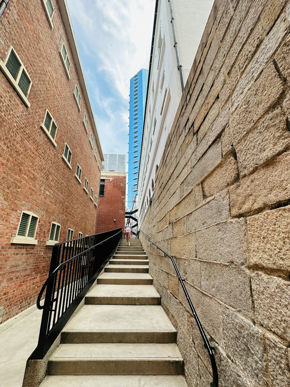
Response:
[{"label": "thin black metal handrail mounted on the right stone wall", "polygon": [[138,231],[138,235],[137,235],[137,238],[138,238],[138,239],[139,239],[139,234],[140,234],[140,232],[143,233],[144,235],[146,235],[147,238],[148,238],[148,241],[150,241],[150,242],[152,243],[152,245],[156,246],[156,247],[157,247],[157,250],[162,251],[162,253],[164,253],[165,257],[168,257],[168,258],[171,259],[171,262],[172,262],[172,264],[173,264],[173,266],[174,266],[174,269],[175,269],[175,271],[176,271],[176,274],[177,274],[177,277],[178,277],[178,279],[179,279],[179,282],[180,282],[180,284],[181,284],[181,286],[182,286],[182,288],[183,288],[184,294],[185,294],[185,296],[186,296],[186,300],[187,300],[188,303],[189,303],[189,307],[190,307],[190,309],[191,309],[191,312],[193,313],[194,320],[196,321],[196,324],[197,324],[197,326],[198,326],[198,330],[200,331],[201,337],[202,337],[203,342],[204,342],[204,344],[205,344],[205,349],[208,351],[208,354],[209,354],[209,356],[210,356],[210,363],[211,363],[211,365],[212,365],[212,373],[213,373],[213,381],[212,381],[212,383],[211,383],[210,385],[211,385],[211,387],[218,387],[218,370],[217,370],[217,363],[216,363],[216,361],[215,361],[215,355],[213,354],[213,351],[214,351],[215,348],[212,347],[212,346],[210,346],[210,342],[208,341],[208,338],[206,337],[206,334],[205,334],[205,331],[204,331],[204,329],[203,329],[203,327],[202,327],[202,325],[201,325],[200,319],[198,318],[198,315],[197,315],[197,313],[196,313],[196,311],[195,311],[195,309],[194,309],[193,303],[191,302],[191,299],[190,299],[190,297],[189,297],[188,291],[186,290],[186,287],[185,287],[185,285],[184,285],[184,283],[183,283],[183,281],[185,281],[185,280],[181,277],[181,275],[180,275],[180,273],[179,273],[179,271],[178,271],[178,269],[177,269],[176,263],[174,262],[174,259],[171,257],[171,255],[167,254],[167,252],[165,252],[164,250],[162,250],[161,247],[159,247],[158,245],[156,245],[156,243],[154,243],[154,242],[151,240],[151,236],[148,235],[148,234],[146,234],[146,233],[144,233],[144,231],[142,231],[142,230],[139,230],[139,231]]}]

